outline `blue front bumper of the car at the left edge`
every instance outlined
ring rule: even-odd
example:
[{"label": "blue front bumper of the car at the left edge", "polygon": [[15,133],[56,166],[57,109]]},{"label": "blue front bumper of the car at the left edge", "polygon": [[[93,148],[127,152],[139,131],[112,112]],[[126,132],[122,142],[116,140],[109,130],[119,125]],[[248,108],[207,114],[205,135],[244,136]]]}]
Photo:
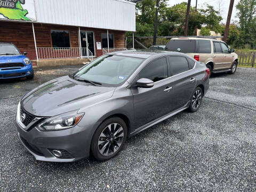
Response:
[{"label": "blue front bumper of the car at the left edge", "polygon": [[25,67],[18,67],[15,69],[0,68],[0,79],[26,77],[33,73],[32,64],[25,65]]}]

